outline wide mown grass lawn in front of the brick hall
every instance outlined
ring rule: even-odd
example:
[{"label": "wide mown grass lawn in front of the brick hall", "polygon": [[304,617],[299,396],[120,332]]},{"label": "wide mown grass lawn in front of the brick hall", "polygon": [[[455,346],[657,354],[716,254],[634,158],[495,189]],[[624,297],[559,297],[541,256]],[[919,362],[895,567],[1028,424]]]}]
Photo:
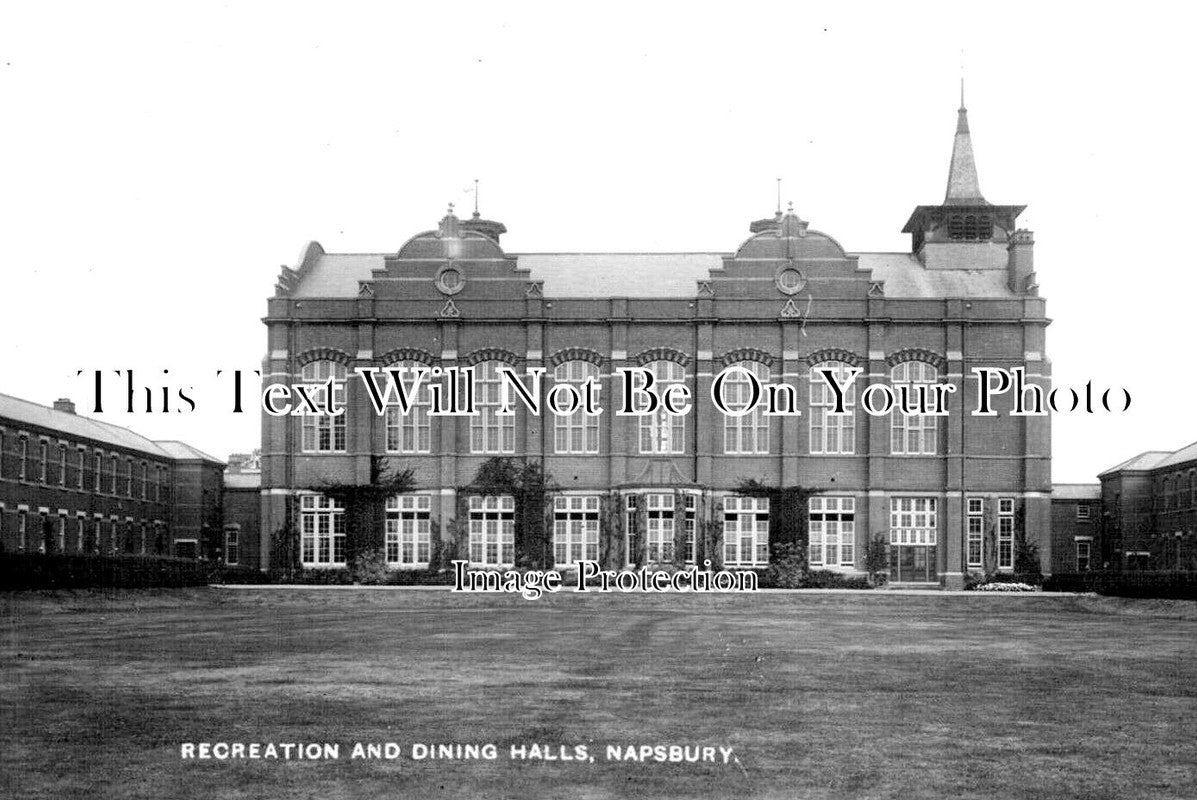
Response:
[{"label": "wide mown grass lawn in front of the brick hall", "polygon": [[[0,598],[12,798],[1195,798],[1195,604],[411,590]],[[181,743],[340,743],[182,760]],[[497,760],[353,760],[354,741]],[[587,745],[521,762],[512,744]],[[729,764],[607,762],[722,745]],[[407,753],[405,752],[405,756]]]}]

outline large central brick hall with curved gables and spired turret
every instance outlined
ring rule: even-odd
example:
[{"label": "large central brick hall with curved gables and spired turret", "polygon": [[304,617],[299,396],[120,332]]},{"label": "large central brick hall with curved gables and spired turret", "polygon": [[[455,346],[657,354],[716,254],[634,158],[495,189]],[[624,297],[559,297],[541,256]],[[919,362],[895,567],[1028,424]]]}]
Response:
[{"label": "large central brick hall with curved gables and spired turret", "polygon": [[[980,193],[967,116],[959,111],[947,194],[917,206],[906,253],[852,253],[792,211],[751,224],[728,253],[506,253],[498,222],[460,219],[397,250],[329,254],[310,243],[284,268],[265,320],[267,382],[345,377],[341,417],[263,416],[262,564],[273,532],[299,537],[305,566],[345,565],[346,519],[320,492],[367,483],[372,456],[415,471],[388,503],[385,554],[396,569],[515,559],[511,497],[470,495],[494,456],[543,465],[555,564],[606,568],[711,559],[764,566],[783,522],[746,479],[810,492],[812,569],[864,570],[865,544],[889,544],[891,581],[959,588],[968,572],[1013,570],[1020,538],[1051,564],[1047,417],[974,417],[977,366],[1022,366],[1050,387],[1049,320],[1022,206]],[[375,413],[358,366],[473,366],[480,413]],[[802,416],[731,418],[710,399],[740,364],[797,387]],[[681,417],[615,416],[615,370],[646,366],[685,383]],[[831,395],[813,369],[859,368],[857,384],[948,382],[948,416],[870,416]],[[497,414],[498,368],[597,377],[601,416]],[[733,393],[743,384],[733,384]],[[712,532],[712,533],[703,533]]]}]

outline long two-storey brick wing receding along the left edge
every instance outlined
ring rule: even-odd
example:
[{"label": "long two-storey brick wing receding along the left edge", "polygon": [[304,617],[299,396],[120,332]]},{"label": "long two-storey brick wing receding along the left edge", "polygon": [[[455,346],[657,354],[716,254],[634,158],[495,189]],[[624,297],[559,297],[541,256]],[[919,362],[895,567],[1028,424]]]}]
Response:
[{"label": "long two-storey brick wing receding along the left edge", "polygon": [[214,557],[224,463],[182,442],[0,394],[6,552]]}]

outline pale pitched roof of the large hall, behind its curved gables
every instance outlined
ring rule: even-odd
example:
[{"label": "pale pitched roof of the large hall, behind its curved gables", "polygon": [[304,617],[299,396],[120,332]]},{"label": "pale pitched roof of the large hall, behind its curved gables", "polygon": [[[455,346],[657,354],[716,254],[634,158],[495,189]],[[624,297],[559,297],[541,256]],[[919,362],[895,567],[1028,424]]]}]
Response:
[{"label": "pale pitched roof of the large hall, behind its curved gables", "polygon": [[[856,253],[858,269],[885,281],[886,297],[1013,297],[1004,269],[928,269],[910,253]],[[693,298],[697,281],[723,267],[722,253],[524,253],[518,267],[545,281],[546,297]],[[291,292],[296,299],[357,297],[358,283],[382,269],[385,255],[320,254]],[[863,274],[862,274],[863,277]]]}]

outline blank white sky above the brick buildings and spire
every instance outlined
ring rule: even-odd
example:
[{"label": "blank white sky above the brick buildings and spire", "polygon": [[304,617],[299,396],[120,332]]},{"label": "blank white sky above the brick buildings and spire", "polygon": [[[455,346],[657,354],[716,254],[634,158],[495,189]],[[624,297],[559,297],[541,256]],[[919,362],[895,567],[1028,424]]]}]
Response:
[{"label": "blank white sky above the brick buildings and spire", "polygon": [[849,250],[906,250],[964,63],[982,189],[1028,206],[1056,384],[1135,400],[1057,416],[1055,479],[1197,438],[1181,4],[385,5],[0,8],[0,392],[169,368],[198,412],[103,419],[255,447],[214,371],[259,366],[279,265],[394,251],[475,177],[510,251],[728,251],[777,176]]}]

